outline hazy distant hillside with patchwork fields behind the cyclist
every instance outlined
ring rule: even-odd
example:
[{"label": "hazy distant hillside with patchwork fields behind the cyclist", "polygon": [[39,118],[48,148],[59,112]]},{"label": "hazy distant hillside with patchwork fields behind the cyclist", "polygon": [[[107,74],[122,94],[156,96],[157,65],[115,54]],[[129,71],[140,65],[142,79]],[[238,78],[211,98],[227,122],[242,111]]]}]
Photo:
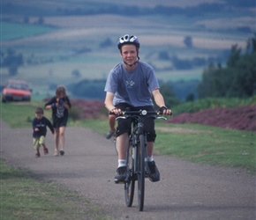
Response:
[{"label": "hazy distant hillside with patchwork fields behind the cyclist", "polygon": [[34,99],[58,84],[106,79],[121,62],[116,44],[125,33],[139,37],[140,59],[159,80],[175,82],[200,80],[209,62],[224,63],[231,46],[245,48],[255,31],[253,1],[3,0],[1,6],[3,59],[10,48],[23,58],[13,76],[3,66],[2,81],[28,81]]}]

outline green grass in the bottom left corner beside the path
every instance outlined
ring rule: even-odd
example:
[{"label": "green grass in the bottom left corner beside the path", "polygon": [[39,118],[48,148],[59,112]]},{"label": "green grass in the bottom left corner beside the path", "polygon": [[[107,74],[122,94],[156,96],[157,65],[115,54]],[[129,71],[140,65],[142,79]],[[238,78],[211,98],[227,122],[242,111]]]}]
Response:
[{"label": "green grass in the bottom left corner beside the path", "polygon": [[14,219],[110,219],[77,193],[17,170],[0,160],[0,218]]}]

